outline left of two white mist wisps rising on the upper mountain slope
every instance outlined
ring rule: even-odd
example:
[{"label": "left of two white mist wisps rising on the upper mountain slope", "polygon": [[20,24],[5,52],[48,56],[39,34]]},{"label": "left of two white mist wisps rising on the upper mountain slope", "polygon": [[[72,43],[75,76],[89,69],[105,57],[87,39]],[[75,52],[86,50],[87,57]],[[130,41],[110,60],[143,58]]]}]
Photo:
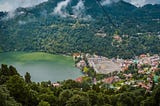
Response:
[{"label": "left of two white mist wisps rising on the upper mountain slope", "polygon": [[69,14],[66,11],[66,7],[69,5],[70,2],[71,0],[59,2],[53,11],[53,14],[59,15],[61,17],[67,17]]}]

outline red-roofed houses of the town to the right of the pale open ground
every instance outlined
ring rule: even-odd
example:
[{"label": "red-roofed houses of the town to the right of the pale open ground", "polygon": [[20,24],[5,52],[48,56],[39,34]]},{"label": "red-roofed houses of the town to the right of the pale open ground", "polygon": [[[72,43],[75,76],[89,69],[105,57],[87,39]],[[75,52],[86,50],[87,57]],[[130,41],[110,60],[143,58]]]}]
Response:
[{"label": "red-roofed houses of the town to the right of the pale open ground", "polygon": [[[133,78],[132,73],[125,74],[125,71],[129,70],[128,68],[131,64],[134,64],[135,68],[137,69],[138,75],[143,76],[141,80]],[[142,87],[147,91],[150,91],[153,86],[153,81],[154,83],[157,83],[158,79],[160,78],[155,74],[155,72],[160,71],[160,68],[158,67],[159,64],[160,57],[158,55],[149,56],[142,54],[135,60],[124,60],[121,63],[121,71],[122,73],[124,73],[124,79],[120,79],[118,76],[111,76],[109,78],[103,79],[102,81],[108,84],[120,81],[120,86],[131,85],[132,87]],[[117,88],[120,88],[120,86],[118,86]]]}]

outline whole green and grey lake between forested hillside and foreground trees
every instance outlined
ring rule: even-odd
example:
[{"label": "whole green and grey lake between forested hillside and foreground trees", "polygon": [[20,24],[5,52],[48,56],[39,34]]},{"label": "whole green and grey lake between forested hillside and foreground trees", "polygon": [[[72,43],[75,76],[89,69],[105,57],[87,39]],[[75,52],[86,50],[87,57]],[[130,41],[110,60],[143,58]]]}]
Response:
[{"label": "whole green and grey lake between forested hillside and foreground trees", "polygon": [[43,52],[0,53],[0,64],[13,65],[21,76],[29,72],[35,82],[56,82],[82,76],[81,71],[74,67],[72,57]]}]

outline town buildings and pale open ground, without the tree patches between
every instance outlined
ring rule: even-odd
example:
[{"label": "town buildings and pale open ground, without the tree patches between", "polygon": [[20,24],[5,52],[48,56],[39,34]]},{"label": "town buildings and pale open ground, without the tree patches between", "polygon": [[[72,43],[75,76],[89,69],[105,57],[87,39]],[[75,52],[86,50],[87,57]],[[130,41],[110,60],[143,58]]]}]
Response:
[{"label": "town buildings and pale open ground, without the tree patches between", "polygon": [[[82,59],[77,63],[77,67],[81,68],[86,66],[87,64],[83,60],[82,55],[80,56],[80,58]],[[90,67],[93,67],[96,73],[108,74],[115,71],[117,71],[117,73],[123,73],[123,79],[121,79],[120,76],[116,74],[101,80],[102,82],[107,84],[112,85],[113,83],[120,82],[120,86],[139,86],[145,88],[146,90],[150,90],[152,88],[153,81],[157,82],[159,79],[159,76],[155,75],[156,71],[160,71],[158,67],[158,65],[160,64],[160,56],[158,55],[150,56],[148,54],[142,54],[135,57],[135,59],[124,60],[114,58],[108,59],[103,56],[85,54],[85,58],[87,59],[88,65]],[[143,78],[143,80],[134,79],[134,75],[132,73],[125,73],[125,71],[129,70],[129,67],[133,64],[137,70],[138,75],[142,75],[143,77],[146,76],[145,78]],[[120,88],[120,86],[118,86],[117,88]]]}]

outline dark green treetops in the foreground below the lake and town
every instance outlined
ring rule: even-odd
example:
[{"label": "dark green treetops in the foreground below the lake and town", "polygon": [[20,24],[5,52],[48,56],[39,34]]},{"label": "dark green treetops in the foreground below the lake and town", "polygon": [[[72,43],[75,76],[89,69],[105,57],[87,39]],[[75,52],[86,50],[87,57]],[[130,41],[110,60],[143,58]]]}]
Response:
[{"label": "dark green treetops in the foreground below the lake and town", "polygon": [[[160,65],[159,65],[160,69]],[[135,73],[131,66],[130,71]],[[127,72],[129,72],[126,71]],[[135,78],[144,78],[136,75]],[[141,78],[141,79],[142,79]],[[27,72],[20,76],[13,66],[2,64],[0,68],[1,106],[158,106],[160,83],[154,83],[151,91],[141,86],[123,85],[114,89],[104,83],[66,80],[54,86],[50,81],[35,83]]]}]

